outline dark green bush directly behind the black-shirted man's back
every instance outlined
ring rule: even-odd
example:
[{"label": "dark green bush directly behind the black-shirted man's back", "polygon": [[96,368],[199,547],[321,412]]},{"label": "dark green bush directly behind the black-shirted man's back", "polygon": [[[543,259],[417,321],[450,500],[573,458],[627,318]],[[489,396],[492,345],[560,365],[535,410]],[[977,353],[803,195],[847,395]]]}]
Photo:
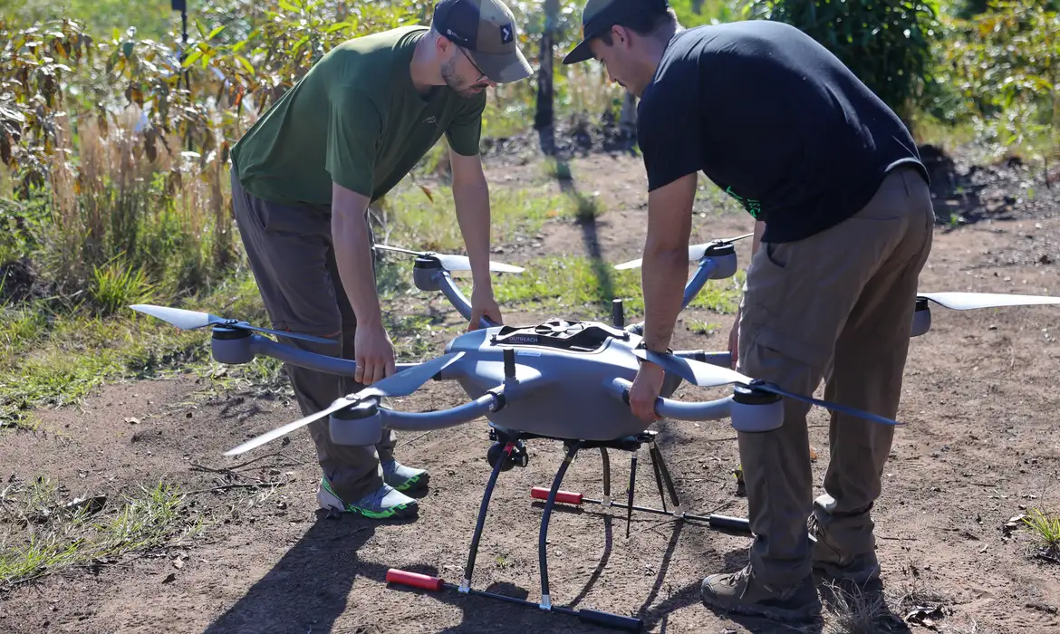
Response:
[{"label": "dark green bush directly behind the black-shirted man's back", "polygon": [[745,11],[809,34],[908,120],[933,67],[933,0],[748,0]]}]

